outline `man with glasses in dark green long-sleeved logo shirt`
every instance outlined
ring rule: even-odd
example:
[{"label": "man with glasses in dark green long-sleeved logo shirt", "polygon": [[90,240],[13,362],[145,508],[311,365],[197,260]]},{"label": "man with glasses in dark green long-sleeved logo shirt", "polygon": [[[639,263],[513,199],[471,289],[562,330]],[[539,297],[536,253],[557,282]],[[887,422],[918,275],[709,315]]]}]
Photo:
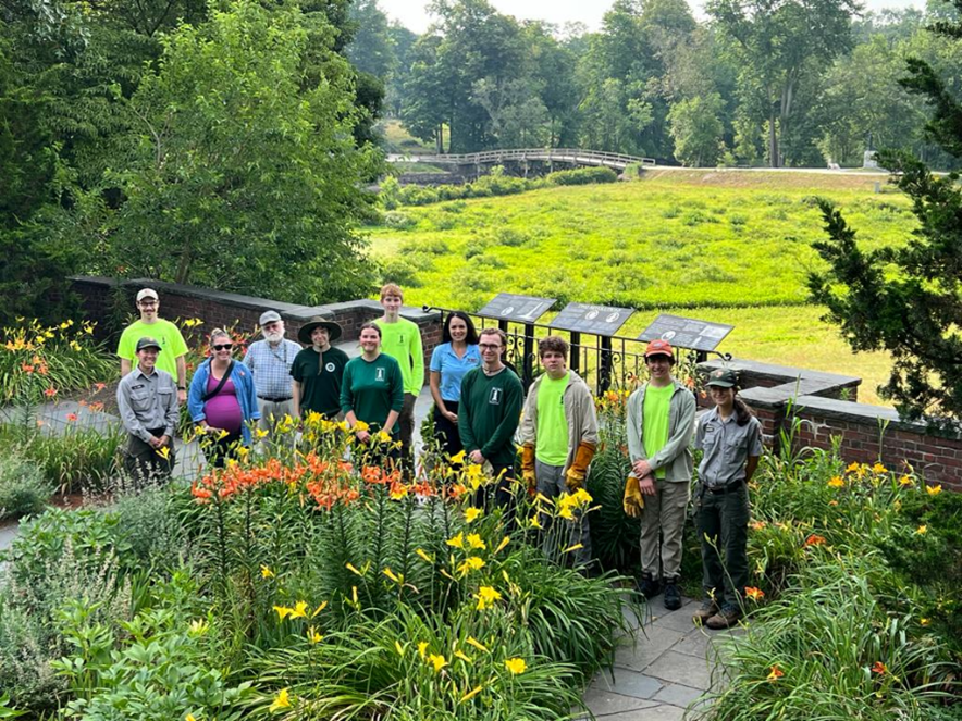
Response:
[{"label": "man with glasses in dark green long-sleeved logo shirt", "polygon": [[525,389],[518,376],[502,360],[507,337],[499,328],[484,328],[478,348],[481,368],[465,374],[458,406],[458,433],[468,462],[491,463],[501,477],[495,498],[510,505],[509,480],[515,477],[515,431],[521,415]]}]

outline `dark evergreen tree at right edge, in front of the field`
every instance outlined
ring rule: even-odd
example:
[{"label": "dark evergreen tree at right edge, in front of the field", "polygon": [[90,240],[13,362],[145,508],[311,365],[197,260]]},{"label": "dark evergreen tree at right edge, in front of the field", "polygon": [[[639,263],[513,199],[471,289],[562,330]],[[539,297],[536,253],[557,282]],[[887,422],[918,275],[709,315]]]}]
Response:
[{"label": "dark evergreen tree at right edge, in front of the field", "polygon": [[[962,0],[955,0],[962,10]],[[962,24],[934,32],[962,45]],[[952,84],[924,60],[908,63],[901,83],[932,108],[927,136],[962,157],[962,104]],[[902,246],[865,250],[841,213],[823,203],[829,239],[816,249],[829,268],[813,273],[813,298],[828,308],[855,350],[887,350],[893,366],[880,388],[908,418],[962,420],[962,192],[959,175],[936,176],[906,152],[880,153],[912,199],[918,228]]]}]

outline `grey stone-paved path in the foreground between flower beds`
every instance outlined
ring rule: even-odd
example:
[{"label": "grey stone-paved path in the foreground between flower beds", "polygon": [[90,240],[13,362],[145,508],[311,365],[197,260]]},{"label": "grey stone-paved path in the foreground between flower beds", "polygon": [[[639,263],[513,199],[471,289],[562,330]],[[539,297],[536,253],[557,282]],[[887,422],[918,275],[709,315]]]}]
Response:
[{"label": "grey stone-paved path in the foreground between flower beds", "polygon": [[631,614],[629,622],[639,629],[637,643],[619,648],[614,669],[601,672],[584,694],[596,718],[675,721],[703,714],[706,706],[699,699],[718,682],[713,679],[718,660],[715,642],[739,631],[696,627],[691,621],[694,608],[694,601],[684,599],[679,610],[668,611],[658,596],[643,619]]}]

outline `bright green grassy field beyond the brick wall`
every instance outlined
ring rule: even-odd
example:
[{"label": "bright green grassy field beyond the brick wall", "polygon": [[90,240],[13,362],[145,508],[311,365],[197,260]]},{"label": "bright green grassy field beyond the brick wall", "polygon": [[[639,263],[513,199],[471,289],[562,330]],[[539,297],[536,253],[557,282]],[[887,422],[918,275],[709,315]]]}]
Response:
[{"label": "bright green grassy field beyond the brick wall", "polygon": [[411,303],[477,310],[498,291],[638,308],[624,335],[658,312],[730,323],[738,357],[862,375],[878,402],[881,353],[852,355],[805,304],[825,237],[815,199],[832,200],[867,247],[903,243],[909,203],[879,177],[661,171],[615,185],[403,208],[370,228],[371,252]]}]

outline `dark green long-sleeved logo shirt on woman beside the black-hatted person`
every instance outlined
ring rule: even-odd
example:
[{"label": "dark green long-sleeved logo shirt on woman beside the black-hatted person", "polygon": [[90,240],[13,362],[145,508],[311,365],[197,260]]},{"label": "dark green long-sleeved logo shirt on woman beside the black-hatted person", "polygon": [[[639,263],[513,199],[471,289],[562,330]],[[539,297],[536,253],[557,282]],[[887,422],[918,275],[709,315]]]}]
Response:
[{"label": "dark green long-sleeved logo shirt on woman beside the black-hatted person", "polygon": [[[341,410],[354,411],[357,420],[371,426],[371,433],[384,428],[392,410],[404,408],[404,378],[397,361],[381,353],[372,361],[362,357],[351,358],[344,366],[341,382]],[[396,433],[398,428],[385,428]]]}]

